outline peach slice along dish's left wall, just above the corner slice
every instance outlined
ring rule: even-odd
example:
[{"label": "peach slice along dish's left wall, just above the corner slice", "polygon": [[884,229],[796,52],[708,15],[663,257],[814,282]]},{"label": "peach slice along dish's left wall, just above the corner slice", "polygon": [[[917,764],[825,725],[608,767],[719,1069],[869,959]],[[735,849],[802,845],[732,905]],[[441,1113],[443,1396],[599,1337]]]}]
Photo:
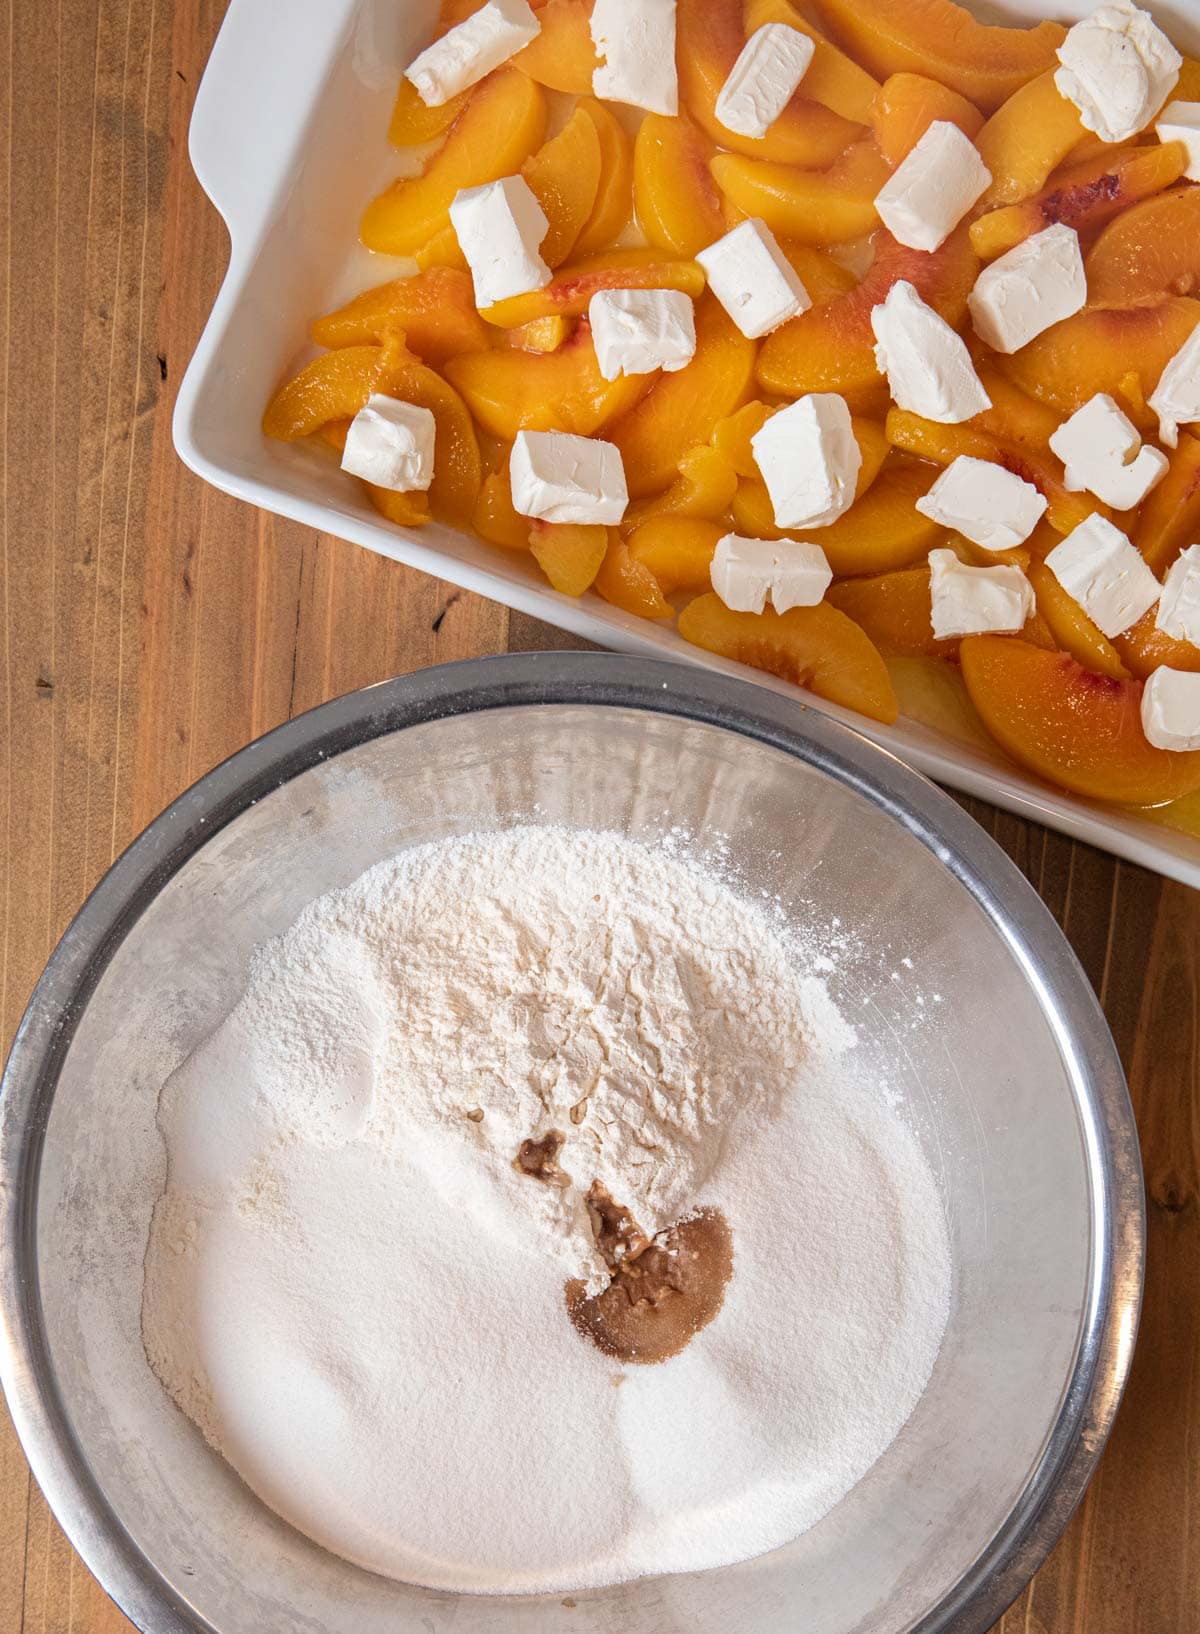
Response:
[{"label": "peach slice along dish's left wall, just above the corner slice", "polygon": [[365,289],[337,312],[319,317],[309,333],[319,346],[355,346],[381,342],[399,330],[405,345],[435,366],[456,351],[489,345],[487,324],[476,310],[469,273],[432,266],[414,278],[394,278]]}]

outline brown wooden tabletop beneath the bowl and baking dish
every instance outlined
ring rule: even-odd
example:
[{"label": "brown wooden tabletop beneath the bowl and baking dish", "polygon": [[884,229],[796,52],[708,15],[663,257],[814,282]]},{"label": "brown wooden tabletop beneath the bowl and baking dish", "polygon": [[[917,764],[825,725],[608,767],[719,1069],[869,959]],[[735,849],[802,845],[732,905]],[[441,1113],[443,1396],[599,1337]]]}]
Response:
[{"label": "brown wooden tabletop beneath the bowl and baking dish", "polygon": [[[0,3],[0,1051],[85,892],[216,761],[387,675],[571,644],[226,498],[175,458],[175,391],[226,261],[186,160],[222,11],[221,0]],[[1064,1541],[1001,1627],[1195,1634],[1200,894],[971,810],[1100,993],[1149,1198],[1146,1307],[1117,1430]],[[3,1418],[0,1634],[129,1627],[56,1526]]]}]

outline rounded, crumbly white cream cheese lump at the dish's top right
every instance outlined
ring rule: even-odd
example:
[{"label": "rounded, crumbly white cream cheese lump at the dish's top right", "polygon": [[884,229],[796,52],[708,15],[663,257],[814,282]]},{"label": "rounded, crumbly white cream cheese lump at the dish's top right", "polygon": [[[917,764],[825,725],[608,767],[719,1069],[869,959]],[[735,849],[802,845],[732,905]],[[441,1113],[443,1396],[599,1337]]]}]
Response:
[{"label": "rounded, crumbly white cream cheese lump at the dish's top right", "polygon": [[1110,0],[1068,31],[1054,85],[1102,142],[1144,131],[1179,78],[1184,59],[1149,11]]}]

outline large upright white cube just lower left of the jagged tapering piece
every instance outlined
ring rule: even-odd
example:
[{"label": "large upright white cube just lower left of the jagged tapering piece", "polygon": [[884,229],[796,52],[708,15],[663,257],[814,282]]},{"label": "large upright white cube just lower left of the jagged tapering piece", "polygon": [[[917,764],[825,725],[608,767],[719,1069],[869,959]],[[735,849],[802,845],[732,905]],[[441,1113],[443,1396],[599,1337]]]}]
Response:
[{"label": "large upright white cube just lower left of the jagged tapering piece", "polygon": [[863,462],[845,397],[809,392],[750,438],[778,528],[826,528],[853,505]]}]

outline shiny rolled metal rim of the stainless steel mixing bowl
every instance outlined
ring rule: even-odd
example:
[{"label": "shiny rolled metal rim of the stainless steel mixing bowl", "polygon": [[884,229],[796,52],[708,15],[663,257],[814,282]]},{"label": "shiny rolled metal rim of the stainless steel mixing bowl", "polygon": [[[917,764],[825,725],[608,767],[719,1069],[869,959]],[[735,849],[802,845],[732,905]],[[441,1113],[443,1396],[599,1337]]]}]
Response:
[{"label": "shiny rolled metal rim of the stainless steel mixing bowl", "polygon": [[[0,1382],[46,1498],[101,1587],[146,1634],[222,1634],[159,1574],[111,1511],[60,1400],[41,1312],[36,1208],[57,1074],[100,975],[162,886],[271,789],[351,747],[486,709],[587,704],[700,721],[773,745],[857,789],[971,892],[1040,990],[1072,1087],[1092,1191],[1094,1252],[1059,1415],[991,1544],[902,1634],[986,1634],[1074,1511],[1120,1404],[1144,1271],[1133,1108],[1095,993],[1020,869],[950,796],[853,729],[752,683],[598,652],[508,654],[347,693],[255,739],[180,794],[96,884],[54,949],[0,1080]],[[901,1634],[898,1629],[896,1634]]]}]

